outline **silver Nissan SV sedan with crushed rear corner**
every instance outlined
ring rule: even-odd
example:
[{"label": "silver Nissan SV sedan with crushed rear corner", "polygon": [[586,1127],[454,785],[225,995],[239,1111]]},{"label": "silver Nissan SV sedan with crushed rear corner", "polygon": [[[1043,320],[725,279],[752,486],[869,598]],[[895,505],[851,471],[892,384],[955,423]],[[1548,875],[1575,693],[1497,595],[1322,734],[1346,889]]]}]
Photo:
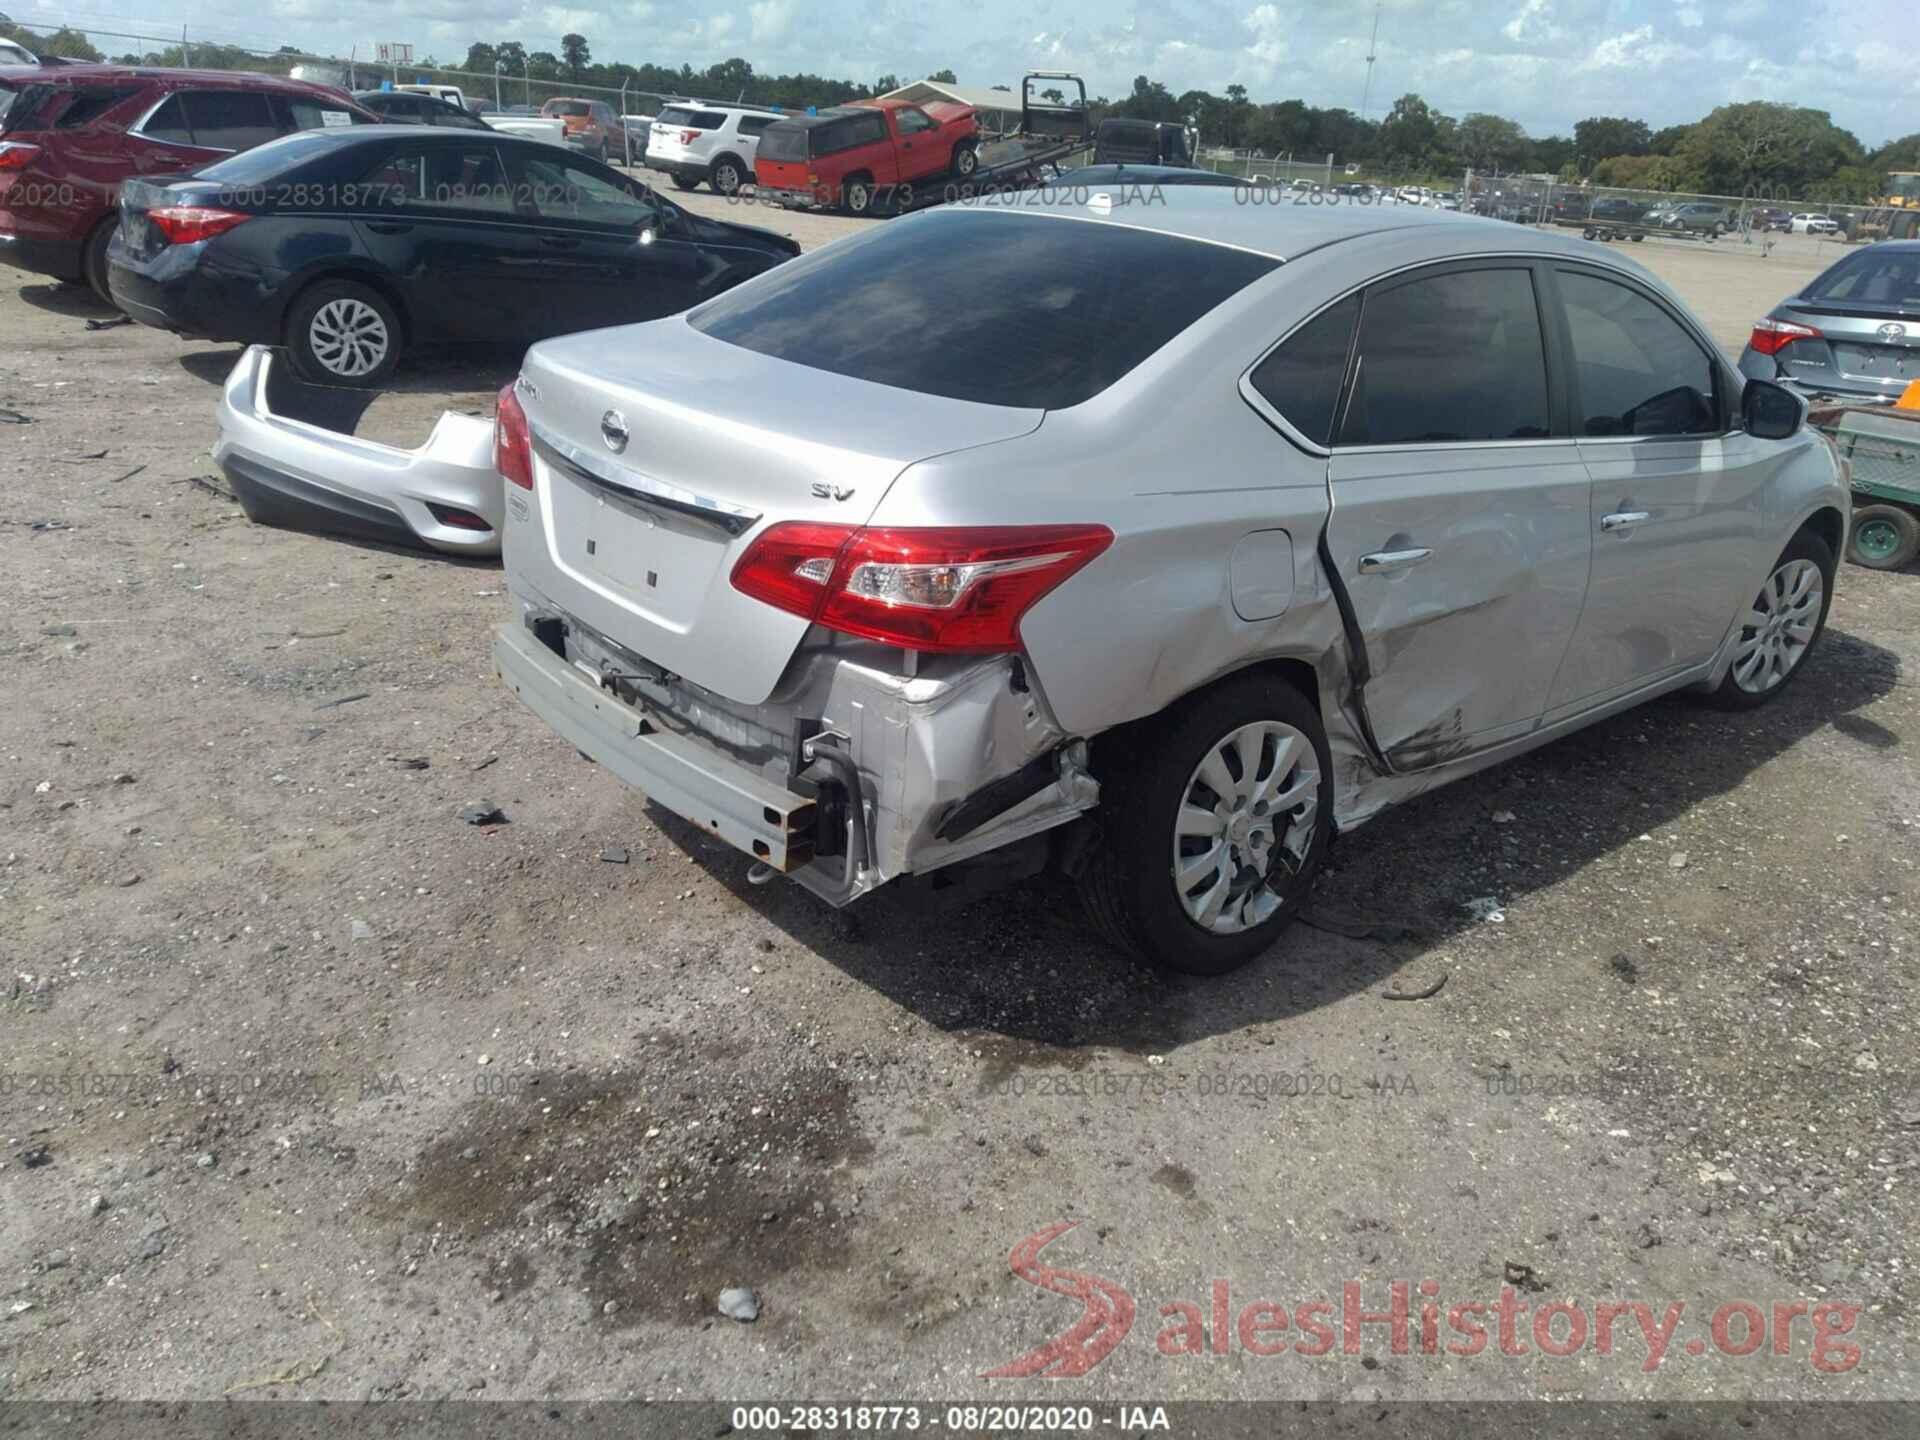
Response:
[{"label": "silver Nissan SV sedan with crushed rear corner", "polygon": [[1062,866],[1114,943],[1217,973],[1336,828],[1805,664],[1841,463],[1638,265],[1411,205],[1079,200],[530,349],[505,682],[755,879]]}]

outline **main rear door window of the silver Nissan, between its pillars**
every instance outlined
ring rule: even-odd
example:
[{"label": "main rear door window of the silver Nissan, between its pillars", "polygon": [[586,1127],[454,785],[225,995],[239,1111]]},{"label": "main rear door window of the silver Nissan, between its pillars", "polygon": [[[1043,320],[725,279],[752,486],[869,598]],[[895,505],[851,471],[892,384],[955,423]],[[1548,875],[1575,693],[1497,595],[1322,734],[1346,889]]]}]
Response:
[{"label": "main rear door window of the silver Nissan, between its pillars", "polygon": [[1367,292],[1340,445],[1549,434],[1546,342],[1528,271],[1448,271]]}]

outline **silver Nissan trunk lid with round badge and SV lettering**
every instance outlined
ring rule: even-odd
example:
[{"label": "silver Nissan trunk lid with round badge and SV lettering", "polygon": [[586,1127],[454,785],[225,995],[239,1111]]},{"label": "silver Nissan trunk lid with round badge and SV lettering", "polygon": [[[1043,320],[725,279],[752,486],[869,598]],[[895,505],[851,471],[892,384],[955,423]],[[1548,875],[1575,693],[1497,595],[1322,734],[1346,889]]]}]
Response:
[{"label": "silver Nissan trunk lid with round badge and SV lettering", "polygon": [[[541,534],[524,555],[509,526],[509,568],[743,705],[774,693],[808,628],[732,586],[760,530],[864,524],[914,461],[1027,434],[1044,415],[814,371],[685,317],[543,342],[522,376]],[[614,449],[607,434],[622,428]]]}]

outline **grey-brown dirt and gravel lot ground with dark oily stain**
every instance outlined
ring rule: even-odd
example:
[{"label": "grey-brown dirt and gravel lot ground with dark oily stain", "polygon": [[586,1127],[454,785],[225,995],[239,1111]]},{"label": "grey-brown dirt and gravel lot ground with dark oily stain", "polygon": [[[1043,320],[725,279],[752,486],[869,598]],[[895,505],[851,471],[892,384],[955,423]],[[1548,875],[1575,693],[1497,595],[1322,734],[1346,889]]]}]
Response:
[{"label": "grey-brown dirt and gravel lot ground with dark oily stain", "polygon": [[[1632,253],[1728,346],[1816,263]],[[1845,568],[1755,716],[1659,703],[1346,837],[1315,906],[1361,937],[1173,983],[1054,883],[749,887],[503,695],[495,566],[248,524],[196,482],[234,351],[98,313],[0,286],[0,1394],[1916,1392],[1920,576]],[[1008,1252],[1058,1221],[1048,1292]],[[1079,1319],[1073,1271],[1127,1340],[981,1379]],[[1684,1311],[1659,1365],[1632,1317],[1428,1356],[1415,1288],[1411,1354],[1261,1357],[1215,1281]],[[1177,1302],[1204,1354],[1156,1346]],[[1816,1363],[1776,1302],[1860,1309]]]}]

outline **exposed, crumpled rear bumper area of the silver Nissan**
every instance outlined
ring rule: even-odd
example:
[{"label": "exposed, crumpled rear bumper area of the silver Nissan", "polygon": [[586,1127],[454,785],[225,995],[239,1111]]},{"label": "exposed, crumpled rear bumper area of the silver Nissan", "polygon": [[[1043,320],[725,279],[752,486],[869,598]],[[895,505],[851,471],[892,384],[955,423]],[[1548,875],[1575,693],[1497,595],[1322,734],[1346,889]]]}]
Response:
[{"label": "exposed, crumpled rear bumper area of the silver Nissan", "polygon": [[493,634],[501,680],[628,785],[829,904],[996,851],[1091,810],[1087,747],[1012,655],[803,647],[766,705],[659,670],[516,591]]}]

